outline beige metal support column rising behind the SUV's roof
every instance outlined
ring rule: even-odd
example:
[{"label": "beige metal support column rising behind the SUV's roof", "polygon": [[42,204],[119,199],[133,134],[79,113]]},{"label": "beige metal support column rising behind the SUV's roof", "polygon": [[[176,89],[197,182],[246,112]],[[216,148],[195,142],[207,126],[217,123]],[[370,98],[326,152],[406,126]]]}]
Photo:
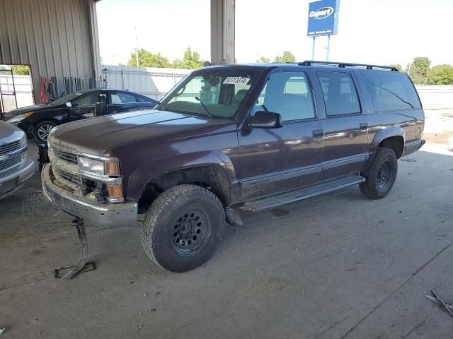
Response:
[{"label": "beige metal support column rising behind the SUV's roof", "polygon": [[236,0],[211,0],[211,62],[234,64]]}]

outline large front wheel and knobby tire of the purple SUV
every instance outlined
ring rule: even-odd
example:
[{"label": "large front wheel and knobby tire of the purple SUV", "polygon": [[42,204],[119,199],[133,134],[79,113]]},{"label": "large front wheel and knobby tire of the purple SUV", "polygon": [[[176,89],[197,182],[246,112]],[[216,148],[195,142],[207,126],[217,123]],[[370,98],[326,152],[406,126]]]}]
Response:
[{"label": "large front wheel and knobby tire of the purple SUV", "polygon": [[200,186],[178,185],[152,203],[142,227],[142,244],[157,266],[185,272],[214,254],[224,228],[224,208],[215,194]]}]

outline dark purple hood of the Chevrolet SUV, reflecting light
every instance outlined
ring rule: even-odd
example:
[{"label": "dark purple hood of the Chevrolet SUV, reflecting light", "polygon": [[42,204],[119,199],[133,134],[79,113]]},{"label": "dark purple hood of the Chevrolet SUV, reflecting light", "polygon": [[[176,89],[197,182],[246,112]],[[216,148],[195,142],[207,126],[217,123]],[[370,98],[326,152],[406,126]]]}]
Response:
[{"label": "dark purple hood of the Chevrolet SUV, reflecting light", "polygon": [[105,115],[57,126],[50,143],[68,150],[109,155],[115,146],[149,139],[153,144],[236,129],[229,119],[207,119],[193,115],[147,109]]}]

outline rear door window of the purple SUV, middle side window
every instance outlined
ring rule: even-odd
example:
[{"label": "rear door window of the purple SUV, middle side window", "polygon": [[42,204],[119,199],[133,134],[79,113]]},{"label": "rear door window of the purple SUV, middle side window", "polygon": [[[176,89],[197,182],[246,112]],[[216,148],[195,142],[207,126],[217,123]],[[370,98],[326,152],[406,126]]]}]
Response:
[{"label": "rear door window of the purple SUV, middle side window", "polygon": [[351,76],[345,72],[317,72],[328,117],[360,113],[360,102]]}]

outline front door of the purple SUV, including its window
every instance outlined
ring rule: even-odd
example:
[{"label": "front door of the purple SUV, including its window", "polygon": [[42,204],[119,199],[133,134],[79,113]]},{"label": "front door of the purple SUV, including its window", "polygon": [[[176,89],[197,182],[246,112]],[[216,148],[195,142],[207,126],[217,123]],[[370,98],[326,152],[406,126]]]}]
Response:
[{"label": "front door of the purple SUV, including its window", "polygon": [[276,71],[258,97],[251,114],[279,113],[283,126],[239,131],[241,200],[290,191],[321,178],[321,122],[306,73]]}]

